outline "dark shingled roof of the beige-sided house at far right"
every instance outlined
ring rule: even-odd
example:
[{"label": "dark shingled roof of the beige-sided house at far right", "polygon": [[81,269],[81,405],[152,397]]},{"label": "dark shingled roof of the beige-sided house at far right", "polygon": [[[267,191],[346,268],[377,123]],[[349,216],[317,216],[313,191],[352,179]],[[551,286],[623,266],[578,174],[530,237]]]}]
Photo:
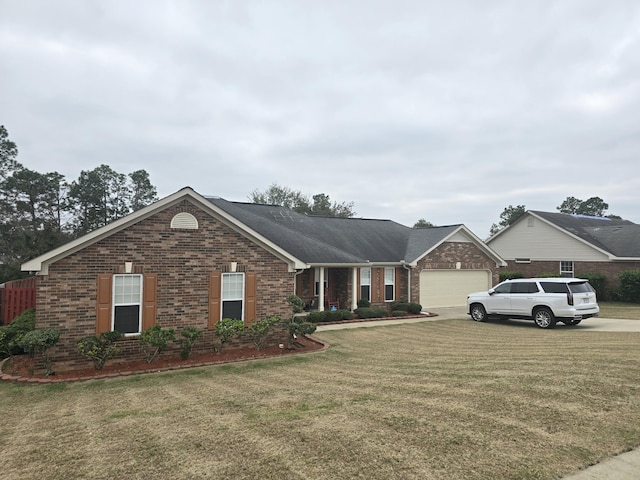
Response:
[{"label": "dark shingled roof of the beige-sided house at far right", "polygon": [[629,220],[531,211],[616,257],[640,257],[640,225]]}]

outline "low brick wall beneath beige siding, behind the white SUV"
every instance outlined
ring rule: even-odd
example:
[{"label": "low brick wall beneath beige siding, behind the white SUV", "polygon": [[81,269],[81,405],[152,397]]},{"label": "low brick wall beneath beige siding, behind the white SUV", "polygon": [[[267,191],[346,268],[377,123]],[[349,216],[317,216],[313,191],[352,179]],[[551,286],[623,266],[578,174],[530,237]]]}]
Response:
[{"label": "low brick wall beneath beige siding, behind the white SUV", "polygon": [[[516,263],[513,260],[507,261],[507,268],[510,272],[518,272],[525,277],[537,277],[543,273],[560,274],[560,262],[539,262]],[[580,278],[581,275],[597,273],[604,275],[605,286],[610,290],[618,290],[620,287],[620,274],[626,270],[640,270],[640,262],[573,262],[574,275]]]}]

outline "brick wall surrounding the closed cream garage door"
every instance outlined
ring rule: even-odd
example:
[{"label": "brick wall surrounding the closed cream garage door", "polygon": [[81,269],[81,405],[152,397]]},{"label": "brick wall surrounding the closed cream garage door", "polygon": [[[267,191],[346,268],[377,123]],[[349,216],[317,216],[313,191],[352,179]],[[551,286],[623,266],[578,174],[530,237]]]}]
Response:
[{"label": "brick wall surrounding the closed cream garage door", "polygon": [[423,270],[455,270],[460,262],[460,270],[488,270],[492,284],[498,283],[500,268],[496,262],[478,246],[470,242],[445,242],[429,255],[422,258],[411,273],[411,300],[420,301],[420,272]]}]

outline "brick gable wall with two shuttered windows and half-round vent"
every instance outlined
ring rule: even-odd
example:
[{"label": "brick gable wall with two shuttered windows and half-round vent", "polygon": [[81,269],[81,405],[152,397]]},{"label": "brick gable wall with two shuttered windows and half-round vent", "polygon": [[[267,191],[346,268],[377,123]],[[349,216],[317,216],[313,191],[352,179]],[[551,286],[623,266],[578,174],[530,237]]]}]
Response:
[{"label": "brick gable wall with two shuttered windows and half-round vent", "polygon": [[[199,228],[171,229],[171,219],[179,212],[194,215]],[[231,262],[238,262],[239,271],[257,275],[258,319],[291,315],[286,299],[293,293],[294,274],[287,264],[183,201],[53,263],[49,274],[38,278],[36,327],[60,332],[60,342],[51,351],[59,370],[87,364],[76,353],[75,343],[96,333],[97,276],[124,273],[125,261],[133,262],[133,273],[158,275],[157,323],[177,332],[188,325],[205,330],[196,344],[200,350],[210,348],[213,338],[207,330],[209,275],[224,271]],[[286,333],[281,330],[270,343],[283,339]],[[142,358],[135,337],[122,345],[122,357]],[[167,355],[178,355],[178,349],[176,343]]]}]

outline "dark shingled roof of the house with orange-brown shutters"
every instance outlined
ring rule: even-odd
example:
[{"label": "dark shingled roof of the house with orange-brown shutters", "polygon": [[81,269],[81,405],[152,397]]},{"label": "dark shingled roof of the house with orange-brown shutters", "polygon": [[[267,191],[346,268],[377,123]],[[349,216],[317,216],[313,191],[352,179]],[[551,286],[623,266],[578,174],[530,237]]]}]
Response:
[{"label": "dark shingled roof of the house with orange-brown shutters", "polygon": [[414,229],[391,220],[304,215],[279,205],[207,200],[306,263],[412,262],[460,227]]}]

